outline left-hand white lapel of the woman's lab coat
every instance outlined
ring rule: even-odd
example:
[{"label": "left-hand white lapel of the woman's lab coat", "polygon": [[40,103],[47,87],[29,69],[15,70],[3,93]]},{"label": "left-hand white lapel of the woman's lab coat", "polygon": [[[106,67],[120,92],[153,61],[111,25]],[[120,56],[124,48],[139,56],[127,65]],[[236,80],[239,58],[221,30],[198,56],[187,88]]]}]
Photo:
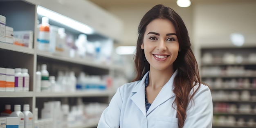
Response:
[{"label": "left-hand white lapel of the woman's lab coat", "polygon": [[136,104],[136,106],[141,110],[141,112],[146,117],[146,105],[145,105],[145,79],[148,75],[148,72],[143,76],[141,81],[135,88],[132,90],[132,93],[135,93],[130,99]]}]

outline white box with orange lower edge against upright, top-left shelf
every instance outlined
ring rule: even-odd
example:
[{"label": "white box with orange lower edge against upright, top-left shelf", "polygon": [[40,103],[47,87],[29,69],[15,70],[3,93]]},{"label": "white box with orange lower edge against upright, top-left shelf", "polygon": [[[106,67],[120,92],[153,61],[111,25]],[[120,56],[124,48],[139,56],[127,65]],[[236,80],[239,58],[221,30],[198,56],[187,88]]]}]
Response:
[{"label": "white box with orange lower edge against upright, top-left shelf", "polygon": [[28,48],[32,48],[34,32],[27,31],[13,31],[14,45],[22,45]]}]

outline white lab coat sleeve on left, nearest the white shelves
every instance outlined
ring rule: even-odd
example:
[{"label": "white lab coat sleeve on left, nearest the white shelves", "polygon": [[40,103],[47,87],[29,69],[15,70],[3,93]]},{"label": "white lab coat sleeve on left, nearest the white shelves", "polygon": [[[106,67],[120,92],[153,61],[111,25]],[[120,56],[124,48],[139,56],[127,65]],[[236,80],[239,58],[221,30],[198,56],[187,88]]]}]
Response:
[{"label": "white lab coat sleeve on left, nearest the white shelves", "polygon": [[119,128],[122,102],[119,87],[112,97],[109,106],[101,114],[97,128]]}]

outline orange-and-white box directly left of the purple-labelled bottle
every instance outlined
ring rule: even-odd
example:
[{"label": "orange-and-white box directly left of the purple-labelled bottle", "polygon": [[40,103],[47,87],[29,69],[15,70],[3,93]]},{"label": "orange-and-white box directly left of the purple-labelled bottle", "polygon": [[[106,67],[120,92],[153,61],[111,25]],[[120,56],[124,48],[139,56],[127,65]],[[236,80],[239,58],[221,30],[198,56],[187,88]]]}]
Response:
[{"label": "orange-and-white box directly left of the purple-labelled bottle", "polygon": [[15,70],[13,68],[6,68],[6,91],[14,91]]}]

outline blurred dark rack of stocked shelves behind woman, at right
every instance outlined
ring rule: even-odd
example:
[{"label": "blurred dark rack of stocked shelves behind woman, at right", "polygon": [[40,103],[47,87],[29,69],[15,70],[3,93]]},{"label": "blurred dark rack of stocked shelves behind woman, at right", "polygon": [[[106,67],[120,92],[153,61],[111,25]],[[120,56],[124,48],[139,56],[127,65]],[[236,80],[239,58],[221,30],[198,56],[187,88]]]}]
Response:
[{"label": "blurred dark rack of stocked shelves behind woman, at right", "polygon": [[213,97],[213,128],[255,128],[256,47],[203,48],[201,54],[201,78]]}]

